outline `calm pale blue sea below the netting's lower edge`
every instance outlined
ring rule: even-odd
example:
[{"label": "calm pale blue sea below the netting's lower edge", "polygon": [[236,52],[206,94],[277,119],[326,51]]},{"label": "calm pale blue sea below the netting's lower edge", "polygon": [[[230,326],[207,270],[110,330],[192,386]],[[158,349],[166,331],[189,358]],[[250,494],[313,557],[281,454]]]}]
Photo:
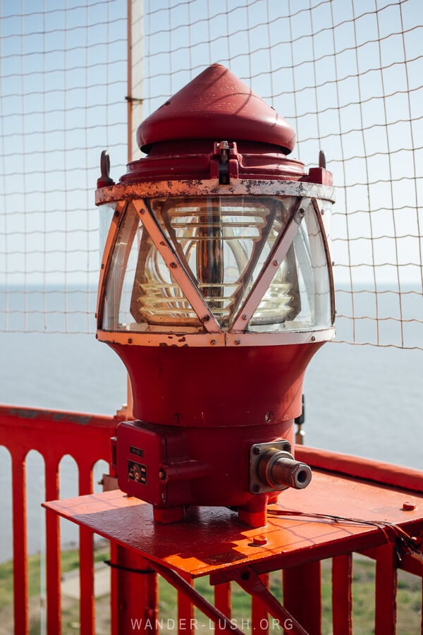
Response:
[{"label": "calm pale blue sea below the netting's lower edge", "polygon": [[[0,332],[1,404],[113,415],[125,403],[125,368],[93,332],[13,332],[13,323],[9,328]],[[304,394],[307,445],[423,468],[422,350],[326,343],[309,363]],[[26,470],[28,550],[44,552],[39,454],[27,456]],[[100,461],[94,472],[97,491],[104,471],[106,463]],[[69,456],[62,460],[60,483],[61,497],[77,495]],[[12,554],[11,463],[4,447],[0,510],[4,562]],[[77,528],[68,521],[61,521],[61,534],[65,547],[78,542]]]}]

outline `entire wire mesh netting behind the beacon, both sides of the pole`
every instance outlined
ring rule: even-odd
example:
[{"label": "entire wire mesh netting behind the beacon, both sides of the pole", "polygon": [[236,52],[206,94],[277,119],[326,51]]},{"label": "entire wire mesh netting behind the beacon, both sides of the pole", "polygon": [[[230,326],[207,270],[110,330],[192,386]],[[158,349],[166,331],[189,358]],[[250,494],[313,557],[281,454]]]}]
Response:
[{"label": "entire wire mesh netting behind the beacon, both sides of the pole", "polygon": [[[126,155],[124,4],[3,9],[2,328],[93,328],[98,156],[118,178]],[[341,341],[422,348],[420,16],[420,0],[145,0],[133,25],[144,116],[220,62],[295,128],[293,156],[326,153]]]}]

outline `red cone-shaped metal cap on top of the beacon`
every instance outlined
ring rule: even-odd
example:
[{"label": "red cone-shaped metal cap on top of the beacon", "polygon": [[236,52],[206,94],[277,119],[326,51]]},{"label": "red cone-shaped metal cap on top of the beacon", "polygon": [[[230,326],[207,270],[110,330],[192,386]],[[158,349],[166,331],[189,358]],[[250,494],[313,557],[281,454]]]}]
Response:
[{"label": "red cone-shaped metal cap on top of the beacon", "polygon": [[288,155],[293,128],[221,64],[212,64],[154,111],[137,130],[148,152],[154,143],[183,139],[271,143]]}]

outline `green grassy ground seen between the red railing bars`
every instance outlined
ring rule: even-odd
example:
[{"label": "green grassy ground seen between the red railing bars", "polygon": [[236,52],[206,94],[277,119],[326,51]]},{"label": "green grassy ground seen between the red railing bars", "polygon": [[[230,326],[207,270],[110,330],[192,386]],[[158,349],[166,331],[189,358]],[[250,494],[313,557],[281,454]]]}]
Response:
[{"label": "green grassy ground seen between the red railing bars", "polygon": [[[101,562],[108,558],[108,549],[104,546],[94,552],[95,562]],[[39,597],[40,586],[40,556],[28,557],[28,586],[30,598],[35,602]],[[78,552],[76,550],[62,553],[62,571],[77,569],[79,566]],[[322,634],[331,634],[331,561],[322,562],[321,597],[322,597]],[[355,557],[353,564],[353,633],[354,635],[372,635],[374,633],[374,562],[364,557]],[[11,562],[0,564],[0,624],[4,623],[4,616],[10,613],[13,601],[13,565]],[[213,602],[213,588],[209,586],[209,579],[201,578],[195,581],[197,588],[205,598]],[[281,572],[274,572],[270,576],[270,588],[276,598],[283,600]],[[102,614],[109,598],[101,598],[97,603],[97,613]],[[159,579],[159,618],[176,620],[177,595],[164,579]],[[420,629],[420,612],[422,610],[422,581],[416,576],[398,571],[398,635],[415,635]],[[238,626],[248,619],[251,610],[250,596],[232,583],[232,617]],[[103,607],[103,608],[102,608]],[[195,613],[198,623],[207,622],[200,612]],[[70,601],[63,606],[63,635],[78,632],[78,602]],[[106,627],[104,627],[106,628]],[[248,631],[248,629],[244,629]],[[272,629],[273,632],[281,633]],[[271,630],[271,633],[272,633]],[[106,632],[102,630],[101,632]],[[174,631],[173,631],[174,632]],[[30,635],[39,633],[39,612],[31,622]],[[166,633],[166,629],[163,630]]]}]

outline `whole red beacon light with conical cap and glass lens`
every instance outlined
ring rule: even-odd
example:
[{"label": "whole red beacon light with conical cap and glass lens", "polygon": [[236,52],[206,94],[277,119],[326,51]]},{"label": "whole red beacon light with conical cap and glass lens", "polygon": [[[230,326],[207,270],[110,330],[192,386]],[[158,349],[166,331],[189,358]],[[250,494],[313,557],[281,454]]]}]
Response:
[{"label": "whole red beacon light with conical cap and glass lens", "polygon": [[97,337],[128,370],[135,421],[112,440],[118,485],[154,520],[228,506],[266,524],[295,461],[309,360],[333,337],[324,167],[288,159],[295,135],[214,64],[138,128],[147,156],[96,203],[113,214]]}]

